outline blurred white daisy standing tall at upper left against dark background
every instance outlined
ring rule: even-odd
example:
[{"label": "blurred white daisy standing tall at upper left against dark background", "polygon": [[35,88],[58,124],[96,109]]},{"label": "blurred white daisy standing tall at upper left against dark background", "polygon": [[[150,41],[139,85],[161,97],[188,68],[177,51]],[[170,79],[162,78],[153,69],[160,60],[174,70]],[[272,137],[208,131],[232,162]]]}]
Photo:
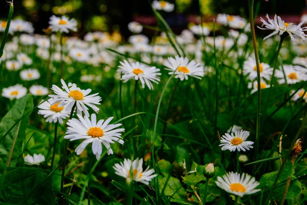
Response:
[{"label": "blurred white daisy standing tall at upper left against dark background", "polygon": [[69,33],[69,30],[77,31],[77,22],[74,18],[69,19],[66,16],[57,17],[55,15],[50,17],[50,28],[52,31],[59,31],[60,33]]}]

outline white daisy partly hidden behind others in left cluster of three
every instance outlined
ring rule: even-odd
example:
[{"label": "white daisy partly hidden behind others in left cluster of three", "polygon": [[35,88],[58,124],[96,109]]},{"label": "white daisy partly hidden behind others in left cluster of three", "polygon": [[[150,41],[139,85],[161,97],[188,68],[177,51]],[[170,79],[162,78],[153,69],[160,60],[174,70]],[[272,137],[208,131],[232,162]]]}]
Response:
[{"label": "white daisy partly hidden behind others in left cluster of three", "polygon": [[63,124],[63,119],[68,118],[70,115],[70,111],[66,111],[65,106],[60,106],[60,103],[54,104],[52,99],[48,99],[38,106],[40,110],[38,110],[39,115],[43,115],[46,118],[46,121],[49,123],[59,121],[60,124]]}]

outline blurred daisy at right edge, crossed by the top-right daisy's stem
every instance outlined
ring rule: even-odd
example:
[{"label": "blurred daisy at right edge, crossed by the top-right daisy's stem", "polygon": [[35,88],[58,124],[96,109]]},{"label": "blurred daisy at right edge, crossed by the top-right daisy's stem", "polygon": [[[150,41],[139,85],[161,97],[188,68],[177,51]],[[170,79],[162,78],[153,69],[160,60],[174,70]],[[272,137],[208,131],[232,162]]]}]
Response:
[{"label": "blurred daisy at right edge, crossed by the top-right daisy's stem", "polygon": [[[286,75],[287,84],[296,84],[302,80],[307,80],[307,70],[301,66],[284,65],[283,70]],[[275,77],[279,78],[279,84],[286,83],[284,80],[284,74],[282,72],[282,67],[280,66],[279,70],[276,70],[275,73]]]}]

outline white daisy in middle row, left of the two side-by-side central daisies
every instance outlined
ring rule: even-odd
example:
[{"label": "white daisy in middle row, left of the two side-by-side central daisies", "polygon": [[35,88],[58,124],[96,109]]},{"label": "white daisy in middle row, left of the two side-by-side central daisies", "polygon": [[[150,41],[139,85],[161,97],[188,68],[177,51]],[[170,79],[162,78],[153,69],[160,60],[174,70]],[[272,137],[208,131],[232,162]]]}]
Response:
[{"label": "white daisy in middle row, left of the two side-by-side central daisies", "polygon": [[121,80],[126,83],[129,79],[140,80],[142,88],[145,88],[145,84],[148,86],[149,90],[153,89],[152,83],[159,84],[161,73],[160,69],[155,66],[149,67],[147,65],[141,64],[140,62],[129,63],[127,60],[120,62],[118,73],[122,73]]}]

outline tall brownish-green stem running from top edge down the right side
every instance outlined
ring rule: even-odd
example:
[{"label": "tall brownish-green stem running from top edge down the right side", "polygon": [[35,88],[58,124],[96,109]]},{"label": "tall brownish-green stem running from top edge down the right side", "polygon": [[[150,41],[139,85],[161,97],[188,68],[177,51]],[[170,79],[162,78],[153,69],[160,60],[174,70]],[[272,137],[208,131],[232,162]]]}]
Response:
[{"label": "tall brownish-green stem running from top edge down the right side", "polygon": [[[255,51],[256,58],[256,67],[257,67],[257,87],[258,87],[258,104],[257,104],[257,128],[256,128],[256,142],[255,142],[255,154],[254,161],[257,161],[258,158],[258,148],[259,148],[259,136],[260,136],[260,115],[261,115],[261,88],[260,88],[260,67],[259,67],[259,56],[256,42],[256,33],[255,33],[255,25],[254,25],[254,0],[249,0],[249,17],[250,17],[250,25],[251,25],[251,34],[253,40],[253,46]],[[254,167],[255,168],[255,167]],[[255,169],[253,169],[255,172]]]}]

